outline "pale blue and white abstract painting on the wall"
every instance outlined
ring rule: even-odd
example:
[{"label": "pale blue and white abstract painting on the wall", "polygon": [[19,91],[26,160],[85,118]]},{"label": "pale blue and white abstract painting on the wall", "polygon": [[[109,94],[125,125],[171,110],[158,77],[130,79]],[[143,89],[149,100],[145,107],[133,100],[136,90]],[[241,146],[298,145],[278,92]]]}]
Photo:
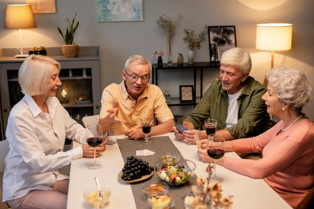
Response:
[{"label": "pale blue and white abstract painting on the wall", "polygon": [[143,0],[97,0],[98,22],[143,21]]}]

